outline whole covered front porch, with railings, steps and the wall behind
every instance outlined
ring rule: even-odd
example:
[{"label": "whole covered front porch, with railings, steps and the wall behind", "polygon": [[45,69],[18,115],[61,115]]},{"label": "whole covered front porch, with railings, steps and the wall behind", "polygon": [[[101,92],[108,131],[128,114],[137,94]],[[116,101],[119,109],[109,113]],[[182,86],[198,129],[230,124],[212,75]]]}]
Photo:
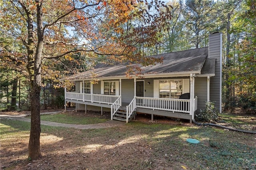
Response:
[{"label": "whole covered front porch, with railings, steps and the wall behind", "polygon": [[[180,93],[189,94],[189,97],[186,99],[174,99],[170,95],[170,98],[163,97],[160,94],[162,93],[160,91],[160,80],[162,79],[164,81],[161,81],[161,83],[166,82],[166,80],[178,80],[179,86],[176,87],[179,88],[182,85]],[[112,82],[111,87],[106,82]],[[109,108],[111,120],[122,120],[128,123],[136,113],[146,113],[151,114],[152,118],[153,115],[160,115],[188,119],[192,122],[194,113],[198,108],[198,97],[194,95],[195,78],[193,74],[178,78],[166,76],[160,79],[150,77],[134,78],[133,80],[113,78],[111,80],[108,78],[99,81],[97,84],[86,80],[78,81],[76,85],[79,85],[79,87],[76,87],[75,92],[67,92],[65,88],[65,102],[76,103],[76,106],[77,104],[83,104],[85,107],[82,109],[85,109],[85,111],[88,105],[100,107],[101,112],[103,112],[103,108]],[[109,88],[105,88],[105,85]],[[105,94],[105,92],[111,95]]]}]

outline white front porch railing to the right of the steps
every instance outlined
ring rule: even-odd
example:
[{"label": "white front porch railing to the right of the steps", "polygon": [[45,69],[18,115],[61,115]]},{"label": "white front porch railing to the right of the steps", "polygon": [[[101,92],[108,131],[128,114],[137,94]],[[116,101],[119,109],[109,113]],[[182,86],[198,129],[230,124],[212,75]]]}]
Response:
[{"label": "white front porch railing to the right of the steps", "polygon": [[152,97],[136,97],[136,107],[190,113],[189,99],[164,99]]}]

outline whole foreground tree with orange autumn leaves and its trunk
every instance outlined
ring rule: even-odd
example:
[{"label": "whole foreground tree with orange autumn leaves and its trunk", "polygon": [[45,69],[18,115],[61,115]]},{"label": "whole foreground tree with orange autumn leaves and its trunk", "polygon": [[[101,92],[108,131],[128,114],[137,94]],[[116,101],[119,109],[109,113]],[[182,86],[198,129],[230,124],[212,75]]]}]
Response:
[{"label": "whole foreground tree with orange autumn leaves and its trunk", "polygon": [[[57,59],[74,56],[94,62],[151,65],[160,59],[145,58],[136,46],[150,46],[157,33],[166,30],[171,6],[158,0],[10,0],[1,3],[0,29],[5,39],[21,47],[1,48],[4,57],[25,56],[30,81],[31,130],[28,158],[40,154],[40,91],[42,76],[58,77],[51,71]],[[102,57],[103,56],[103,57]],[[54,59],[54,60],[48,60]],[[100,61],[97,61],[100,59]],[[53,63],[52,63],[53,62]],[[139,67],[134,68],[140,71]]]}]

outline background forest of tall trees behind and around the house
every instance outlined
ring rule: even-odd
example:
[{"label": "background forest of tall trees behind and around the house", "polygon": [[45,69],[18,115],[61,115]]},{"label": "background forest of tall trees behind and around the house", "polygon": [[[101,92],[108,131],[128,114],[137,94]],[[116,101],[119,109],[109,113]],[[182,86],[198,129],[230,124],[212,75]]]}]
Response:
[{"label": "background forest of tall trees behind and around the house", "polygon": [[[253,0],[187,0],[171,1],[172,20],[166,22],[168,29],[158,32],[157,40],[136,44],[136,52],[143,56],[181,51],[208,46],[208,35],[223,33],[223,109],[242,107],[256,111],[256,2]],[[0,2],[0,110],[29,110],[31,89],[27,69],[27,53],[19,35],[7,34],[8,16]],[[22,20],[22,18],[21,18]],[[129,32],[132,25],[143,25],[138,19],[123,24]],[[19,21],[16,21],[19,24]],[[98,25],[100,29],[100,25]],[[66,34],[72,29],[61,28]],[[22,30],[20,30],[22,32]],[[73,33],[72,33],[73,34]],[[79,40],[78,32],[74,32]],[[146,34],[146,33],[145,33]],[[96,43],[96,42],[95,42]],[[62,48],[62,47],[60,47]],[[64,48],[64,47],[63,47]],[[47,49],[46,49],[47,50]],[[49,49],[51,50],[51,49]],[[93,57],[92,57],[93,55]],[[86,71],[96,63],[108,62],[103,55],[71,55],[58,59],[43,59],[42,109],[64,107],[62,77]]]}]

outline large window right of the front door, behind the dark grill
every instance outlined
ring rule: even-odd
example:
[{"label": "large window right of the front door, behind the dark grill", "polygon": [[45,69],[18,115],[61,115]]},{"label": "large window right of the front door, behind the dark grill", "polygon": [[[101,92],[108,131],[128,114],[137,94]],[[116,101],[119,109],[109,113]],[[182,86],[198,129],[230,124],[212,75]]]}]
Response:
[{"label": "large window right of the front door, behind the dark grill", "polygon": [[159,80],[159,97],[178,99],[182,95],[183,80]]}]

